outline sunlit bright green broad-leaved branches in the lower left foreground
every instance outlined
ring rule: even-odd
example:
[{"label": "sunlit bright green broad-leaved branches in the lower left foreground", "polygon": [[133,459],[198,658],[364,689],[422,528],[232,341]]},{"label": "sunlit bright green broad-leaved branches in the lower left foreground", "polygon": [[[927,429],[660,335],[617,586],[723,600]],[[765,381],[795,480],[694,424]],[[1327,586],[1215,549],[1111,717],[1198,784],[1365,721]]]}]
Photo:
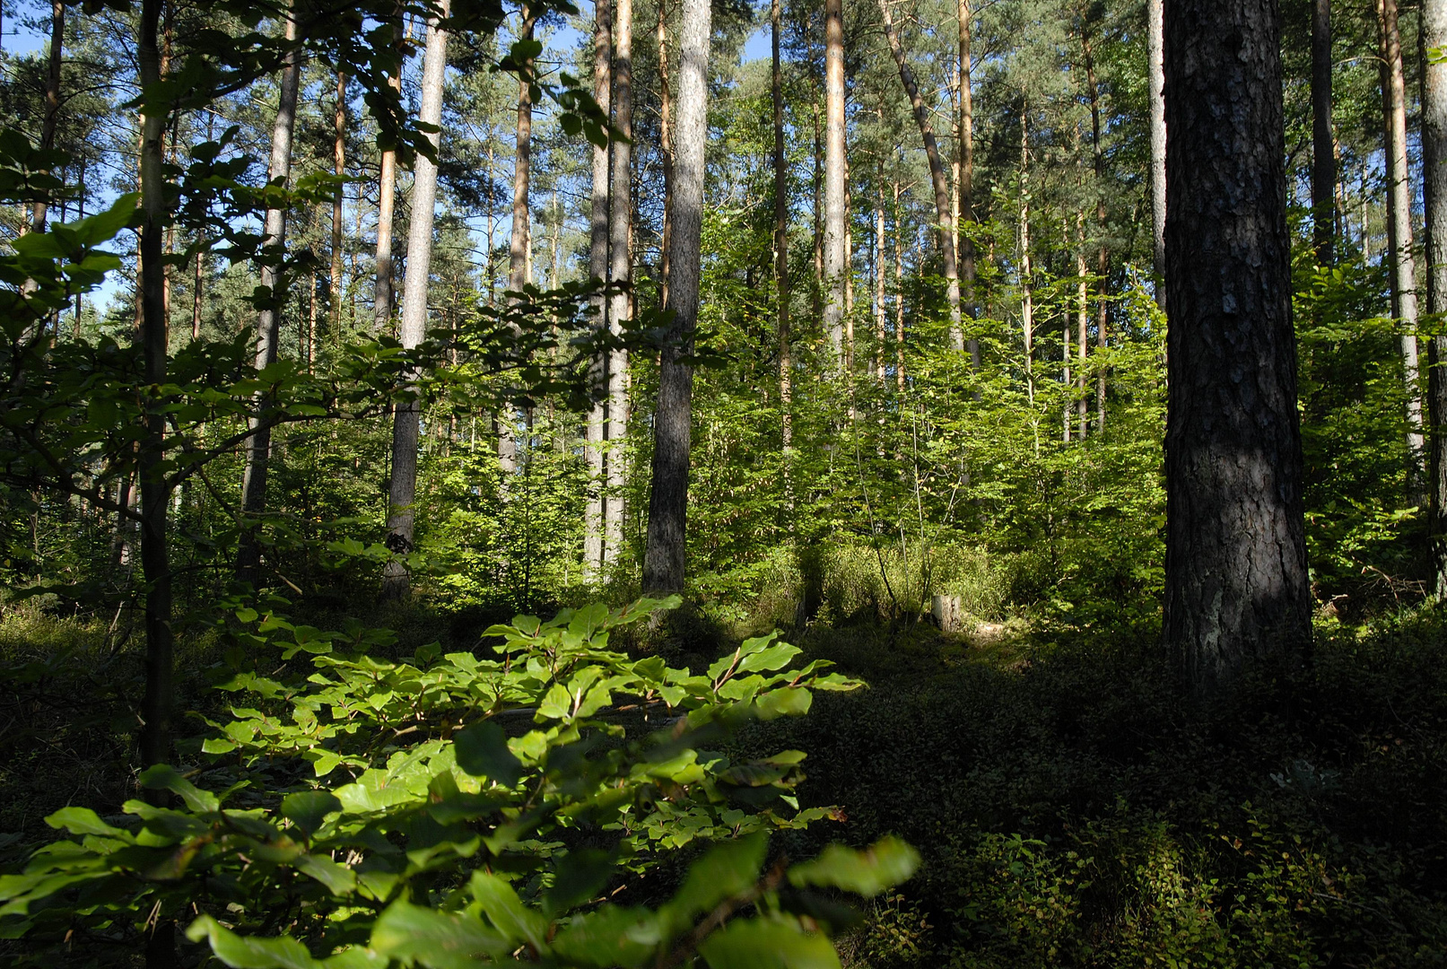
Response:
[{"label": "sunlit bright green broad-leaved branches in the lower left foreground", "polygon": [[[149,768],[153,797],[122,816],[52,814],[68,837],[0,878],[0,931],[149,949],[190,923],[252,969],[836,963],[823,933],[848,914],[812,889],[874,895],[915,852],[887,839],[765,866],[770,830],[829,816],[792,794],[805,755],[731,762],[705,745],[860,684],[825,661],[789,670],[800,651],[774,635],[705,674],[608,648],[673,605],[519,616],[485,633],[496,658],[401,659],[372,655],[386,631],[242,609],[218,686],[250,706],[207,720],[190,749],[208,762]],[[605,902],[699,840],[725,843],[667,902]]]}]

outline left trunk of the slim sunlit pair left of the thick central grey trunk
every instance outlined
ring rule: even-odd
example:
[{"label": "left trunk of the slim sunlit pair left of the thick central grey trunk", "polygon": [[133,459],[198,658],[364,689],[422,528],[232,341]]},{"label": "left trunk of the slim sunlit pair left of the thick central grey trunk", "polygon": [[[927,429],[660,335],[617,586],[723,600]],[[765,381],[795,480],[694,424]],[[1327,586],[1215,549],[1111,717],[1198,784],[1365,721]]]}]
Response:
[{"label": "left trunk of the slim sunlit pair left of the thick central grey trunk", "polygon": [[[614,22],[609,0],[595,0],[596,14],[593,33],[593,100],[611,114],[612,107],[612,56],[614,56]],[[587,250],[587,270],[593,279],[606,282],[609,273],[608,262],[608,194],[609,159],[612,153],[608,148],[593,146],[593,211],[592,237]],[[666,220],[667,221],[667,220]],[[667,224],[664,224],[667,233]],[[611,310],[606,295],[599,294],[593,302],[598,311],[599,327],[608,330],[608,312]],[[603,398],[593,404],[587,414],[587,480],[589,499],[585,512],[583,532],[583,580],[595,581],[603,568],[603,528],[608,513],[608,390],[609,366],[612,357],[603,353],[593,364],[593,377],[599,385]]]}]

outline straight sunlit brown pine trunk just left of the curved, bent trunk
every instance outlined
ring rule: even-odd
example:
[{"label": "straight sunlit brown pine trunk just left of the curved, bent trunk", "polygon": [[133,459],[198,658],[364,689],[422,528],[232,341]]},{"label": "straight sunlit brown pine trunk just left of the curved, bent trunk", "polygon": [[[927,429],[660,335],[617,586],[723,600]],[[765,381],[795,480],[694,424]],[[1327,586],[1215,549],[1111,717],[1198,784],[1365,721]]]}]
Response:
[{"label": "straight sunlit brown pine trunk just left of the curved, bent trunk", "polygon": [[833,350],[832,366],[844,363],[844,0],[823,4],[823,328]]}]

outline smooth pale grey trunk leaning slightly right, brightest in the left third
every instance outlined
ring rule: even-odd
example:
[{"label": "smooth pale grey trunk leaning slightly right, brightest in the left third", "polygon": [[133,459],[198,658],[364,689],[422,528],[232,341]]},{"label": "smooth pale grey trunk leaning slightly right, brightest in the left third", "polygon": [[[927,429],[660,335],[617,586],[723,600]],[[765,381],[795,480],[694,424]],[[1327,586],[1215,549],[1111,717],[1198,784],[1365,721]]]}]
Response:
[{"label": "smooth pale grey trunk leaning slightly right, brightest in the left third", "polygon": [[[427,139],[438,145],[437,127],[443,119],[443,78],[447,72],[447,32],[440,19],[447,17],[450,0],[440,0],[438,16],[427,20],[427,52],[423,58],[423,103],[418,120],[433,127]],[[433,215],[437,207],[437,163],[418,152],[412,166],[412,221],[407,230],[407,288],[402,292],[402,320],[398,337],[411,350],[427,336],[427,283],[433,262]],[[414,511],[417,499],[417,445],[421,405],[417,399],[398,402],[392,414],[392,474],[388,487],[386,547],[394,555],[414,548]],[[391,558],[382,568],[382,597],[404,599],[411,592],[407,564]]]}]

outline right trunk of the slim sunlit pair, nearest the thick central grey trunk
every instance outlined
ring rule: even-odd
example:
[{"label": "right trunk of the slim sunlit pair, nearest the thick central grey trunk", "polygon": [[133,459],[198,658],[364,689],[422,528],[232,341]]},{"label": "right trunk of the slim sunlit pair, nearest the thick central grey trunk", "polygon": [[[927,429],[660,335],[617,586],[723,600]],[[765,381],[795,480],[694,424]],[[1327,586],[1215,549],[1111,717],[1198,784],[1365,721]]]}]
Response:
[{"label": "right trunk of the slim sunlit pair, nearest the thick central grey trunk", "polygon": [[[612,189],[608,204],[609,276],[624,286],[612,296],[608,325],[622,336],[631,318],[632,286],[632,0],[614,0],[614,127],[624,139],[609,145],[612,153]],[[603,567],[612,567],[624,539],[624,437],[628,430],[628,351],[609,351],[608,421],[609,450],[608,493],[603,508]]]}]

